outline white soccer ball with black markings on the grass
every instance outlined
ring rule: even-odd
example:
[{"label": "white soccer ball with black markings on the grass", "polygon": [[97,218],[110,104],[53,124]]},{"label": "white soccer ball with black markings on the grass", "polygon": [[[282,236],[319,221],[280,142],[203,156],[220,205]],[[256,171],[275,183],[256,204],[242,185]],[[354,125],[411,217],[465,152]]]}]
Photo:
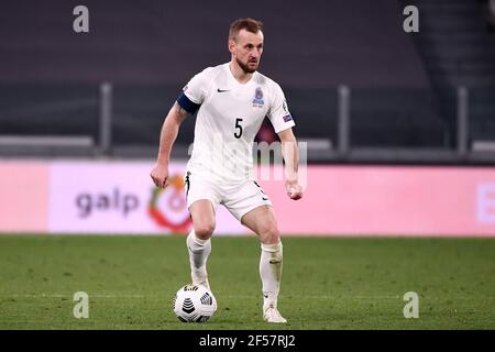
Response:
[{"label": "white soccer ball with black markings on the grass", "polygon": [[173,307],[183,322],[205,322],[217,311],[217,300],[205,286],[189,284],[177,292]]}]

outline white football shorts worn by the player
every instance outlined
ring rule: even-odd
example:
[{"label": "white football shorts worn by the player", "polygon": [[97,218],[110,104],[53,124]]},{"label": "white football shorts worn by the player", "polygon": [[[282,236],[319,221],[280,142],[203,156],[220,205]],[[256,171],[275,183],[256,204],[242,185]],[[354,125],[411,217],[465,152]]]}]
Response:
[{"label": "white football shorts worn by the player", "polygon": [[215,210],[218,205],[222,205],[239,221],[254,208],[272,206],[268,196],[255,180],[246,180],[238,185],[221,185],[187,172],[185,187],[188,209],[196,200],[209,199]]}]

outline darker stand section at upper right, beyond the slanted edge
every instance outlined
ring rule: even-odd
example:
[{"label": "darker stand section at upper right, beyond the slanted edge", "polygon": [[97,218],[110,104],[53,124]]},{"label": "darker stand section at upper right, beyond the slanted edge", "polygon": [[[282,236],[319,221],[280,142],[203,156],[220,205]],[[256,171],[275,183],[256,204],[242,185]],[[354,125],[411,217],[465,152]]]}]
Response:
[{"label": "darker stand section at upper right, beyond the slanted edge", "polygon": [[417,1],[421,9],[418,52],[436,92],[437,111],[443,118],[448,145],[455,145],[457,95],[452,87],[470,91],[470,136],[495,136],[495,35],[487,31],[483,7],[476,1]]}]

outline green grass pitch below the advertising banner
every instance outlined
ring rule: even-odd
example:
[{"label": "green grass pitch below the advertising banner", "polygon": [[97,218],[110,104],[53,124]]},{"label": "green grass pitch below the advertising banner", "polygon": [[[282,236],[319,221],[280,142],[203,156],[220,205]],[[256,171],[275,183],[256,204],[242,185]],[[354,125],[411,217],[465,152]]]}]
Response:
[{"label": "green grass pitch below the advertising banner", "polygon": [[[182,235],[0,235],[0,329],[495,329],[495,239],[284,238],[287,324],[262,321],[258,258],[255,237],[213,237],[217,314],[183,323]],[[88,319],[73,316],[76,292]]]}]

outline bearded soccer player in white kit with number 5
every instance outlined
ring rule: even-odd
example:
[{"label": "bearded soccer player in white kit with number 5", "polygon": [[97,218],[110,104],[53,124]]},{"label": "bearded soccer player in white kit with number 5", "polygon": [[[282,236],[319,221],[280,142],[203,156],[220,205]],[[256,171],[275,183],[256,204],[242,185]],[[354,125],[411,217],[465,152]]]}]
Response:
[{"label": "bearded soccer player in white kit with number 5", "polygon": [[193,284],[209,288],[207,260],[215,230],[215,213],[224,206],[261,241],[260,276],[263,319],[286,322],[277,309],[282,277],[282,242],[272,202],[253,176],[253,141],[267,116],[282,142],[285,188],[290,199],[302,197],[298,183],[299,154],[295,122],[282,88],[260,74],[263,24],[235,20],[229,31],[231,61],[194,76],[165,118],[158,156],[151,177],[166,187],[170,148],[180,123],[196,111],[194,150],[187,164],[186,198],[194,230],[187,237]]}]

